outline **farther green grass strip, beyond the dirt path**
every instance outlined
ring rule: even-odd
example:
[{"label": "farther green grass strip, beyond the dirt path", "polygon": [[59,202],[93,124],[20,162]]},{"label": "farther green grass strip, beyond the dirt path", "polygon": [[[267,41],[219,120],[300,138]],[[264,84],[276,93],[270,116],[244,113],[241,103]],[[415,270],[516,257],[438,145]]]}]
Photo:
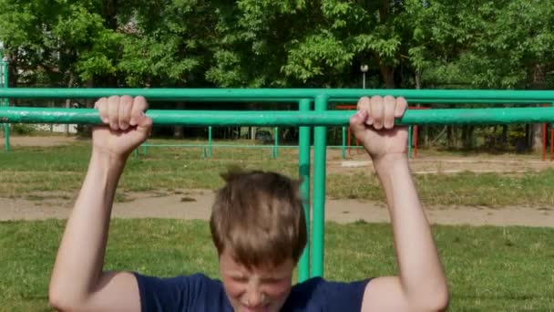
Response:
[{"label": "farther green grass strip, beyond the dirt path", "polygon": [[[174,142],[153,140],[157,143]],[[193,143],[194,141],[187,141]],[[227,143],[226,143],[227,144]],[[39,199],[44,192],[67,198],[80,187],[90,153],[87,140],[71,146],[21,148],[0,152],[0,196]],[[119,184],[118,200],[126,192],[215,189],[220,172],[231,165],[296,175],[297,152],[284,149],[277,161],[269,149],[215,149],[213,160],[202,160],[200,148],[149,148],[148,155],[128,161]],[[426,204],[455,205],[554,205],[554,169],[526,174],[421,175],[415,178]],[[379,183],[364,174],[329,174],[327,194],[332,198],[382,200]]]}]

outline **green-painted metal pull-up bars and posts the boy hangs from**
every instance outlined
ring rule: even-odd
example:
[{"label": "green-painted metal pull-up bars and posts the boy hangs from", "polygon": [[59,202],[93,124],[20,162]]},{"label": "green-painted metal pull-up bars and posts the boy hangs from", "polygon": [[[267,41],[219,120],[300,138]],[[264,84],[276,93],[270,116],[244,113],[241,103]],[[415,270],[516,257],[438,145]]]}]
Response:
[{"label": "green-painted metal pull-up bars and posts the boy hangs from", "polygon": [[[209,126],[289,126],[300,127],[299,175],[301,192],[308,200],[313,186],[313,219],[310,202],[304,212],[311,232],[299,264],[299,279],[323,276],[326,127],[346,126],[352,111],[327,111],[331,102],[354,102],[362,96],[404,96],[412,103],[518,103],[554,102],[554,91],[508,90],[405,90],[405,89],[139,89],[139,88],[6,88],[2,98],[91,99],[111,95],[144,96],[149,100],[298,102],[299,111],[214,111],[155,110],[147,115],[157,125]],[[312,110],[313,104],[313,110]],[[75,123],[99,124],[95,109],[0,108],[0,122],[5,123]],[[403,125],[426,124],[505,124],[554,122],[553,107],[489,109],[408,110],[396,121]],[[313,140],[313,180],[311,180],[311,131]],[[312,221],[311,221],[312,220]]]}]

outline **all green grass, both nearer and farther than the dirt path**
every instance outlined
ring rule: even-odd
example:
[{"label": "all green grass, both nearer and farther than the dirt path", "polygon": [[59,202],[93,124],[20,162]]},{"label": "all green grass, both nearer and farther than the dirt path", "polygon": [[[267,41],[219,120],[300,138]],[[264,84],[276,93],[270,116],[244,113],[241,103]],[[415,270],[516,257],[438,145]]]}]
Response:
[{"label": "all green grass, both nearer and farther than the dirt path", "polygon": [[[154,140],[155,142],[164,142]],[[194,143],[189,141],[189,143]],[[71,199],[87,170],[89,141],[0,152],[0,197]],[[126,192],[215,189],[230,165],[297,174],[297,154],[267,149],[218,149],[202,160],[200,148],[149,148],[128,162],[118,196]],[[382,199],[377,180],[328,174],[327,195]],[[554,170],[525,174],[425,175],[415,178],[426,204],[554,205]],[[64,191],[64,192],[60,192]],[[41,311],[64,221],[0,223],[0,311]],[[107,269],[176,276],[218,276],[216,254],[203,221],[115,220]],[[452,294],[451,310],[554,310],[554,228],[435,226]],[[328,224],[325,276],[355,280],[395,274],[388,224]],[[186,250],[185,250],[186,247]]]}]

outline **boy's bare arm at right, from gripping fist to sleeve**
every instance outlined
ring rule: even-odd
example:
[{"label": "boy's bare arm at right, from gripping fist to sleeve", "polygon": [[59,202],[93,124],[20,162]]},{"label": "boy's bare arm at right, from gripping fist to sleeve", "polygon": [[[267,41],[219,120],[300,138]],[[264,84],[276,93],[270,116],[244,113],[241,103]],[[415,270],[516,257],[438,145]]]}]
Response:
[{"label": "boy's bare arm at right, from gripping fist to sleeve", "polygon": [[445,310],[446,277],[408,167],[407,133],[393,128],[394,118],[404,113],[405,100],[375,97],[361,102],[360,109],[367,112],[351,123],[372,157],[385,191],[399,269],[398,276],[375,278],[366,286],[362,310]]}]

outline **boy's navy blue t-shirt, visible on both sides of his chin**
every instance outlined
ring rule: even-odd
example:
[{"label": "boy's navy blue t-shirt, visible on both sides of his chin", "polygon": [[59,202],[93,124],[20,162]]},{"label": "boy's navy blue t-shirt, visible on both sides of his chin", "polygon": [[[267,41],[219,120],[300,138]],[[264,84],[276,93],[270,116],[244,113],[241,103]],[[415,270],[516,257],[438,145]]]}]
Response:
[{"label": "boy's navy blue t-shirt, visible on both sides of his chin", "polygon": [[[219,280],[196,274],[159,278],[135,274],[140,306],[149,311],[232,312],[231,303]],[[321,277],[292,286],[282,311],[355,311],[362,308],[369,280],[354,283],[328,282]]]}]

